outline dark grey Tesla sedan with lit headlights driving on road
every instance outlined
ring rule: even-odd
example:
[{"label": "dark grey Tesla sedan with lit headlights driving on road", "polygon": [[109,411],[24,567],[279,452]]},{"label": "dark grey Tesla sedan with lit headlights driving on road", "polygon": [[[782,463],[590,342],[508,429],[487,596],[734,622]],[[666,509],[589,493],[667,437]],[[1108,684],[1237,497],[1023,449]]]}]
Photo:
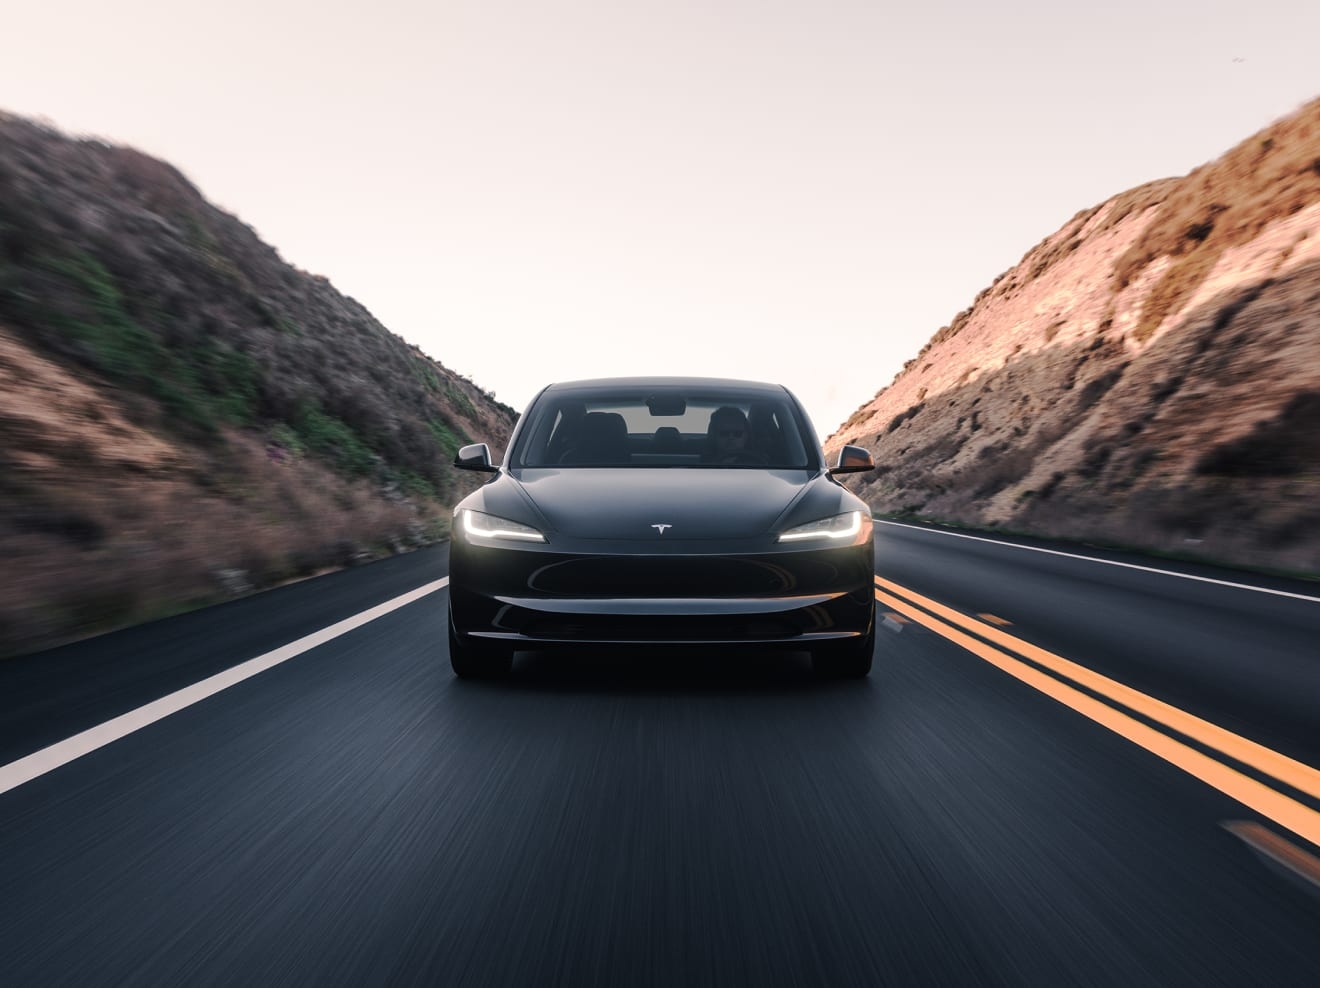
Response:
[{"label": "dark grey Tesla sedan with lit headlights driving on road", "polygon": [[871,514],[784,387],[710,378],[550,384],[503,462],[454,510],[449,656],[498,676],[553,646],[796,649],[865,676],[875,645]]}]

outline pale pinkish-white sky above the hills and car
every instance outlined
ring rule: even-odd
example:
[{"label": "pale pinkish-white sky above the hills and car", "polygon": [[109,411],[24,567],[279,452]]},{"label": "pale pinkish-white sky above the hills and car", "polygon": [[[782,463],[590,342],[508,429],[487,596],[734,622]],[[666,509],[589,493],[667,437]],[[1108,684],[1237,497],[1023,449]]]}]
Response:
[{"label": "pale pinkish-white sky above the hills and car", "polygon": [[29,0],[3,21],[0,110],[170,161],[502,402],[754,378],[821,437],[1074,213],[1320,95],[1315,0]]}]

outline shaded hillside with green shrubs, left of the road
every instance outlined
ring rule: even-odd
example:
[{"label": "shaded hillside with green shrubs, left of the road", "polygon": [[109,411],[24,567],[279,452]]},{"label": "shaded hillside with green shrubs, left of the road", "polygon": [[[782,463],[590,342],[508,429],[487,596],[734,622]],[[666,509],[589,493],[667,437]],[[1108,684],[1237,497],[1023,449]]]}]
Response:
[{"label": "shaded hillside with green shrubs, left of the road", "polygon": [[441,539],[515,417],[170,165],[0,115],[0,655]]}]

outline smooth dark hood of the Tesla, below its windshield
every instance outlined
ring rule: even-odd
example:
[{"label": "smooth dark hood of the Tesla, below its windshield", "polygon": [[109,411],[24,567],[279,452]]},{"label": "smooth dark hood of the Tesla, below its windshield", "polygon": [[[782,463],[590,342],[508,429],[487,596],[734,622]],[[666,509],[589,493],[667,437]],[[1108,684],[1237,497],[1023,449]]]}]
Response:
[{"label": "smooth dark hood of the Tesla, below its windshield", "polygon": [[702,468],[524,470],[517,481],[550,531],[628,540],[764,535],[814,482],[808,470]]}]

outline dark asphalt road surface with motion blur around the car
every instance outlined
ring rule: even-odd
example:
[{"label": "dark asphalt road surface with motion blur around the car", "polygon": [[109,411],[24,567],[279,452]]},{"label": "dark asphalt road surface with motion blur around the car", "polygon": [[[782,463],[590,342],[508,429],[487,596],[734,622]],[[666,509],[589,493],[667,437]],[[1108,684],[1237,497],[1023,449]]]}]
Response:
[{"label": "dark asphalt road surface with motion blur around the car", "polygon": [[[1059,656],[1315,766],[1320,602],[879,528],[861,683],[640,651],[461,683],[440,589],[0,793],[0,983],[1315,984],[1320,893],[1225,823],[1302,873],[1317,848],[1005,668]],[[445,561],[0,663],[0,765]]]}]

